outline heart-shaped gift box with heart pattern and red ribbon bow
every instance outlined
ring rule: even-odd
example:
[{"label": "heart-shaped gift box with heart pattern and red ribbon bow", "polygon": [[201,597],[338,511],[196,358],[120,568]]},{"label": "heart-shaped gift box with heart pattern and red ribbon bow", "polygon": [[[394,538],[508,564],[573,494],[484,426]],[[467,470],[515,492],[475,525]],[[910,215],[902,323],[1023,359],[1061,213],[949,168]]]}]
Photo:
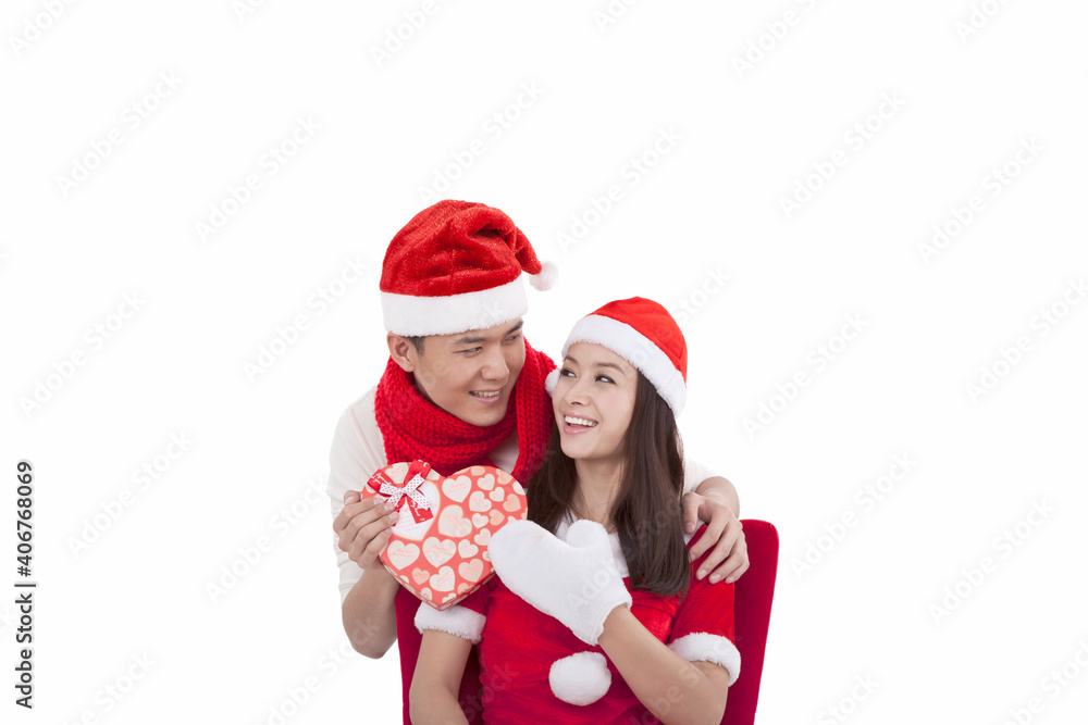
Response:
[{"label": "heart-shaped gift box with heart pattern and red ribbon bow", "polygon": [[[379,492],[381,483],[385,493]],[[443,476],[420,461],[394,463],[374,472],[363,487],[363,499],[375,496],[399,496],[400,518],[381,553],[382,563],[404,587],[440,611],[491,577],[491,537],[529,512],[521,484],[505,471],[483,465]]]}]

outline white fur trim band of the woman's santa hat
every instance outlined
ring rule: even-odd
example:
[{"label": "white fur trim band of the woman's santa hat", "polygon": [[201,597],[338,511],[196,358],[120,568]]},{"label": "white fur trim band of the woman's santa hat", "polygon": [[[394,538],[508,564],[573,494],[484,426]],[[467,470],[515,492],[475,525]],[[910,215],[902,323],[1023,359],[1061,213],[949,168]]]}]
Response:
[{"label": "white fur trim band of the woman's santa hat", "polygon": [[[562,346],[560,359],[567,357],[570,346],[576,342],[595,342],[604,346],[634,365],[657,388],[657,395],[669,404],[672,414],[680,415],[688,400],[688,386],[684,385],[683,375],[660,348],[634,327],[604,315],[586,315],[570,330]],[[558,382],[558,374],[556,380]],[[548,392],[554,391],[555,385],[552,385]]]}]

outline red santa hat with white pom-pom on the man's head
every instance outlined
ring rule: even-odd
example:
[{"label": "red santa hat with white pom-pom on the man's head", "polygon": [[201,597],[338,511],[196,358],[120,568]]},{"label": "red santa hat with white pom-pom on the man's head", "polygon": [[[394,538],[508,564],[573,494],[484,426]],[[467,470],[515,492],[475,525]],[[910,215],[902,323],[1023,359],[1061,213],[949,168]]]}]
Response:
[{"label": "red santa hat with white pom-pom on the man's head", "polygon": [[393,237],[382,263],[385,329],[404,336],[486,329],[526,313],[521,273],[536,289],[556,277],[529,239],[497,209],[446,199]]}]

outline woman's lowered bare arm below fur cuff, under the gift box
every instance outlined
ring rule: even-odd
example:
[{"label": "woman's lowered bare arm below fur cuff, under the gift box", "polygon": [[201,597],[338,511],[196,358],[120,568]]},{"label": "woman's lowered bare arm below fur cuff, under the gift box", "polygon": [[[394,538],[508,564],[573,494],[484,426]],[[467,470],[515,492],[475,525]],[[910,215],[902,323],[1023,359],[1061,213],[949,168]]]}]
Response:
[{"label": "woman's lowered bare arm below fur cuff, under the gift box", "polygon": [[[425,604],[424,604],[425,607]],[[457,702],[472,642],[436,629],[423,633],[408,695],[416,725],[468,725]]]}]

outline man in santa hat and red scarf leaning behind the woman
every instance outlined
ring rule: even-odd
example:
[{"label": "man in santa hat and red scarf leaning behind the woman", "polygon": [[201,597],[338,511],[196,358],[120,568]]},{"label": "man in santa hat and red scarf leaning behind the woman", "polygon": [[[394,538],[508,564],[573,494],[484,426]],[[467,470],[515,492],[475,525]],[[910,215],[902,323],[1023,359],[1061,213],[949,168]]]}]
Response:
[{"label": "man in santa hat and red scarf leaning behind the woman", "polygon": [[[390,361],[378,386],[341,417],[330,452],[329,495],[344,629],[353,647],[370,658],[399,642],[409,725],[419,600],[378,558],[396,512],[386,511],[380,498],[360,502],[359,491],[378,468],[413,459],[445,474],[495,465],[529,482],[552,430],[544,380],[555,363],[522,334],[528,303],[521,275],[546,289],[554,277],[549,266],[506,214],[452,200],[412,217],[385,254],[380,287]],[[712,583],[732,580],[747,568],[737,491],[690,459],[685,470],[685,526],[693,532],[697,518],[709,522],[692,553],[698,557],[713,546],[706,574]],[[481,722],[479,692],[473,655],[460,693],[470,723]]]}]

